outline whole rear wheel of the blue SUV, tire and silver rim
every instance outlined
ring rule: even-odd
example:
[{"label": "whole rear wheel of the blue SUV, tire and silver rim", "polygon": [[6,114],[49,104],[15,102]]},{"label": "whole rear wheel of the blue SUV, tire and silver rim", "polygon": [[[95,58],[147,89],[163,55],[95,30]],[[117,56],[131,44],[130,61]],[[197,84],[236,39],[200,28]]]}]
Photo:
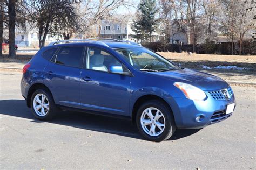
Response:
[{"label": "whole rear wheel of the blue SUV, tire and silver rim", "polygon": [[[41,102],[43,101],[42,104],[40,104],[40,101]],[[56,107],[53,101],[52,95],[47,90],[44,90],[44,89],[36,90],[31,96],[30,103],[31,103],[31,110],[33,115],[41,121],[50,121],[56,115],[56,112],[58,110],[58,108]],[[43,106],[43,109],[42,109],[42,106]],[[36,108],[39,108],[39,109],[37,110]]]}]

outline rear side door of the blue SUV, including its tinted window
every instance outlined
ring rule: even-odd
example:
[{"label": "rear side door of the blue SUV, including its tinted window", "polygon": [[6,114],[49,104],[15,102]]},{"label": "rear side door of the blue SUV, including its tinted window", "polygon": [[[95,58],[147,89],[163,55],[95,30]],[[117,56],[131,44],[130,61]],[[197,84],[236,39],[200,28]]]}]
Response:
[{"label": "rear side door of the blue SUV, including its tinted window", "polygon": [[45,84],[56,104],[80,108],[80,73],[83,46],[60,47],[45,68]]}]

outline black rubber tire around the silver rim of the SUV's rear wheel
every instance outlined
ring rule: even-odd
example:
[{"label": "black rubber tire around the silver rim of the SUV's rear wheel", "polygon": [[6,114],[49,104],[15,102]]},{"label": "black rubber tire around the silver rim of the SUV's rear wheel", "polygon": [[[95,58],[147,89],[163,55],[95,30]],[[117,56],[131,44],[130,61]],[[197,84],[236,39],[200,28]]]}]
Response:
[{"label": "black rubber tire around the silver rim of the SUV's rear wheel", "polygon": [[[46,98],[48,99],[49,110],[48,110],[48,113],[47,113],[45,116],[39,116],[39,115],[37,115],[36,112],[35,112],[35,110],[34,110],[34,108],[33,108],[33,100],[34,100],[34,98],[35,98],[35,96],[36,96],[37,94],[43,94],[43,95],[45,95]],[[33,115],[34,115],[37,119],[39,119],[39,120],[48,121],[48,120],[50,120],[50,119],[53,117],[53,115],[55,114],[55,103],[53,102],[52,97],[51,97],[51,95],[48,93],[48,91],[46,91],[46,90],[44,90],[44,89],[38,89],[38,90],[36,90],[36,91],[32,94],[32,96],[31,96],[31,110],[32,110]]]}]

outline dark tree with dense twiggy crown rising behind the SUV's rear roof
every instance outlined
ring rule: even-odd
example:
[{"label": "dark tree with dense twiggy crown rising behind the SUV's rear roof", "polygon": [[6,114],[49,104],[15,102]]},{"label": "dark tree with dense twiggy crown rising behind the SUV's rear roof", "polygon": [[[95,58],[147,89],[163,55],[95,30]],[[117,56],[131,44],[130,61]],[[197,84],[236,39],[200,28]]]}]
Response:
[{"label": "dark tree with dense twiggy crown rising behind the SUV's rear roof", "polygon": [[35,0],[26,3],[29,22],[38,28],[39,47],[45,45],[48,35],[62,36],[62,30],[76,30],[77,13],[72,1]]}]

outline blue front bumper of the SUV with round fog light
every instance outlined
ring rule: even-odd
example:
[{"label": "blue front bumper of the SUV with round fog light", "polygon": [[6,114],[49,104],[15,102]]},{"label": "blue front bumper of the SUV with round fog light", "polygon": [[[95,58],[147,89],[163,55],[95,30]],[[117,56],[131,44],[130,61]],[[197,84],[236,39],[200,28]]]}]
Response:
[{"label": "blue front bumper of the SUV with round fog light", "polygon": [[235,103],[234,95],[229,100],[215,100],[207,95],[206,100],[172,98],[170,102],[179,129],[200,129],[224,121],[233,114],[226,114],[227,105],[232,103]]}]

